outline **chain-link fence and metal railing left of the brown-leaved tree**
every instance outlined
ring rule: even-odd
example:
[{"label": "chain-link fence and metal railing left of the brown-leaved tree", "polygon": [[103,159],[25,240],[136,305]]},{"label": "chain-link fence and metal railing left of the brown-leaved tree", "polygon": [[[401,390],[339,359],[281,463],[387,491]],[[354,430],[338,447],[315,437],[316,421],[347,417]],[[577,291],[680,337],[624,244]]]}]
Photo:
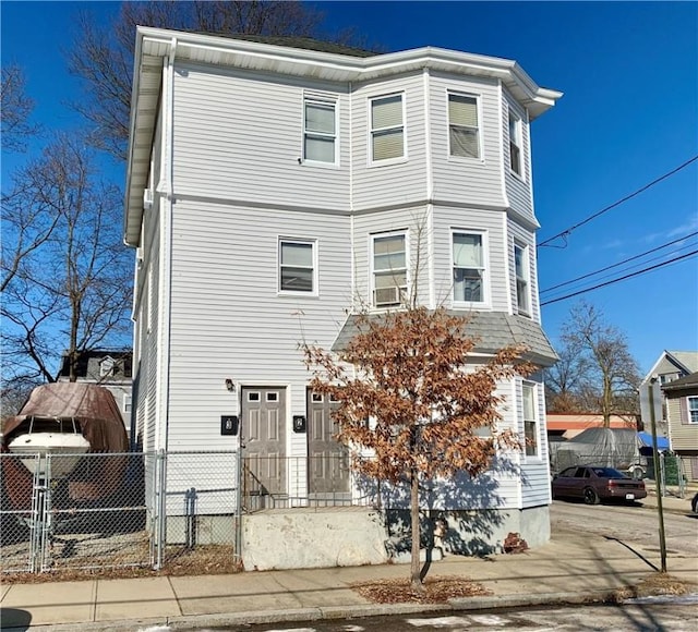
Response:
[{"label": "chain-link fence and metal railing left of the brown-leaved tree", "polygon": [[345,453],[0,454],[0,572],[129,567],[232,572],[242,514],[380,506]]}]

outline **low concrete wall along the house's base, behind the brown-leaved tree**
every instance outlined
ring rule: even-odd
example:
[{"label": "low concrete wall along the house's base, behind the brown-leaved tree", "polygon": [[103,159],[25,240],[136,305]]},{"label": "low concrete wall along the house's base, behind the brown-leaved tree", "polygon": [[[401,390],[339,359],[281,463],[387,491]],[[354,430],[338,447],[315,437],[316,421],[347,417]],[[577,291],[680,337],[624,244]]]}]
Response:
[{"label": "low concrete wall along the house's base, behind the brown-leaved tree", "polygon": [[[550,539],[547,506],[432,511],[424,512],[421,522],[422,548],[435,547],[447,555],[503,552],[509,533],[518,534],[529,547]],[[406,562],[411,546],[409,525],[409,511],[402,509],[299,508],[248,514],[242,519],[244,568],[262,571]]]}]

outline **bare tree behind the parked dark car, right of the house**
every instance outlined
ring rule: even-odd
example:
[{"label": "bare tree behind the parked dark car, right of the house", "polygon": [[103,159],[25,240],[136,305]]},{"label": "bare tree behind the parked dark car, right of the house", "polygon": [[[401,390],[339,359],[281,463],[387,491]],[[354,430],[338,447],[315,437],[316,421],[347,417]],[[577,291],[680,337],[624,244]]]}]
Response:
[{"label": "bare tree behind the parked dark car, right of the house", "polygon": [[603,415],[604,427],[612,415],[635,417],[641,377],[625,335],[585,302],[571,308],[562,331],[563,344],[578,358],[576,390],[582,405]]}]

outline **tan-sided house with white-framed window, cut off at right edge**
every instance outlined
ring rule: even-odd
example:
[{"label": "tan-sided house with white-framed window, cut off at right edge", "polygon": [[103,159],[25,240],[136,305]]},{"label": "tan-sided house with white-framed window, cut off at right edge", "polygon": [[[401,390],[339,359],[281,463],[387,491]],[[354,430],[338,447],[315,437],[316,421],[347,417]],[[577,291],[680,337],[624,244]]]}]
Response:
[{"label": "tan-sided house with white-framed window, cut off at right edge", "polygon": [[698,481],[698,373],[664,384],[662,392],[672,450],[681,457],[686,478]]}]

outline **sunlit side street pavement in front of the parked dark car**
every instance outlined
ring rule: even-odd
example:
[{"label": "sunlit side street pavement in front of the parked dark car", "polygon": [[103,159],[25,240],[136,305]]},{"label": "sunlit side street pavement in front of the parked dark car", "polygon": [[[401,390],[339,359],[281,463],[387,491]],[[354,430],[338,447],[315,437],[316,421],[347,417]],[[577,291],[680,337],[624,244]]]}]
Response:
[{"label": "sunlit side street pavement in front of the parked dark car", "polygon": [[[638,545],[648,552],[659,552],[659,516],[650,507],[554,500],[550,519],[553,533],[559,528],[583,528]],[[698,557],[698,516],[664,512],[664,532],[669,557]],[[671,563],[667,570],[671,572]]]}]

